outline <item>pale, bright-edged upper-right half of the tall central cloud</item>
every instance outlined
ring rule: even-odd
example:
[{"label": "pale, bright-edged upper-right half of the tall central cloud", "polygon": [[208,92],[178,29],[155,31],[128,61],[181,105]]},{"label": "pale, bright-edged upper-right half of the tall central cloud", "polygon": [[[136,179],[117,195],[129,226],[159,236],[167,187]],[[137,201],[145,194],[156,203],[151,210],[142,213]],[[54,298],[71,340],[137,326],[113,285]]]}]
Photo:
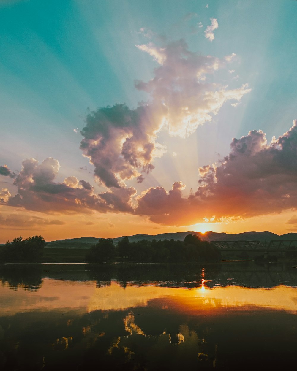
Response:
[{"label": "pale, bright-edged upper-right half of the tall central cloud", "polygon": [[183,39],[162,50],[164,62],[154,70],[154,78],[136,81],[136,88],[150,93],[153,102],[162,102],[162,125],[171,135],[185,138],[210,121],[227,100],[240,100],[251,91],[247,84],[228,90],[228,86],[209,83],[206,76],[223,68],[226,60],[190,52]]}]

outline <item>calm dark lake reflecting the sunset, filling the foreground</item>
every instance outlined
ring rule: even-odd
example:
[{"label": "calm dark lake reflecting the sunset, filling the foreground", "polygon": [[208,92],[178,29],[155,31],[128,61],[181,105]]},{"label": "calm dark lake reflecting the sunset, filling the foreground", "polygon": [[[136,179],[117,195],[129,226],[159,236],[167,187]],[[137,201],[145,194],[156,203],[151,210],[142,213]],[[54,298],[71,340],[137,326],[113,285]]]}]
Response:
[{"label": "calm dark lake reflecting the sunset, filling the foreground", "polygon": [[0,265],[1,370],[293,370],[296,262]]}]

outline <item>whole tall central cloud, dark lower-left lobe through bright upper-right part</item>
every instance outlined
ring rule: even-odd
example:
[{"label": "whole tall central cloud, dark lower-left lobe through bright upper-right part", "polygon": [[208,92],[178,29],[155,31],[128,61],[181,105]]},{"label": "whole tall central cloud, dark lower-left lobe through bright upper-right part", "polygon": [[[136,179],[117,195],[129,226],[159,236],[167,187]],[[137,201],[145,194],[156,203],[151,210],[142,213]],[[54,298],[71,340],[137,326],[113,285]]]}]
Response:
[{"label": "whole tall central cloud, dark lower-left lobe through bright upper-right part", "polygon": [[157,143],[161,129],[184,138],[210,121],[226,101],[239,101],[250,91],[247,84],[229,90],[208,82],[208,76],[228,63],[225,58],[191,52],[183,39],[158,42],[162,45],[137,45],[159,64],[150,81],[135,82],[150,100],[136,109],[116,104],[91,112],[81,131],[81,150],[107,187],[125,187],[124,181],[132,178],[141,182],[153,170],[154,158],[166,151]]}]

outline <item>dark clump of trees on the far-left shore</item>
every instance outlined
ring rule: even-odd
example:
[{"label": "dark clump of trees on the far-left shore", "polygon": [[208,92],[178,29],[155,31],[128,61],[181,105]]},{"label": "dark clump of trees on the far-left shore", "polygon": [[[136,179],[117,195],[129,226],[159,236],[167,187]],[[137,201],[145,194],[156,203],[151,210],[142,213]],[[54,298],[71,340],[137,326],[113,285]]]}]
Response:
[{"label": "dark clump of trees on the far-left shore", "polygon": [[12,242],[7,241],[1,251],[1,260],[36,260],[43,255],[43,248],[46,241],[42,236],[32,236],[23,240],[23,237],[16,237]]}]

